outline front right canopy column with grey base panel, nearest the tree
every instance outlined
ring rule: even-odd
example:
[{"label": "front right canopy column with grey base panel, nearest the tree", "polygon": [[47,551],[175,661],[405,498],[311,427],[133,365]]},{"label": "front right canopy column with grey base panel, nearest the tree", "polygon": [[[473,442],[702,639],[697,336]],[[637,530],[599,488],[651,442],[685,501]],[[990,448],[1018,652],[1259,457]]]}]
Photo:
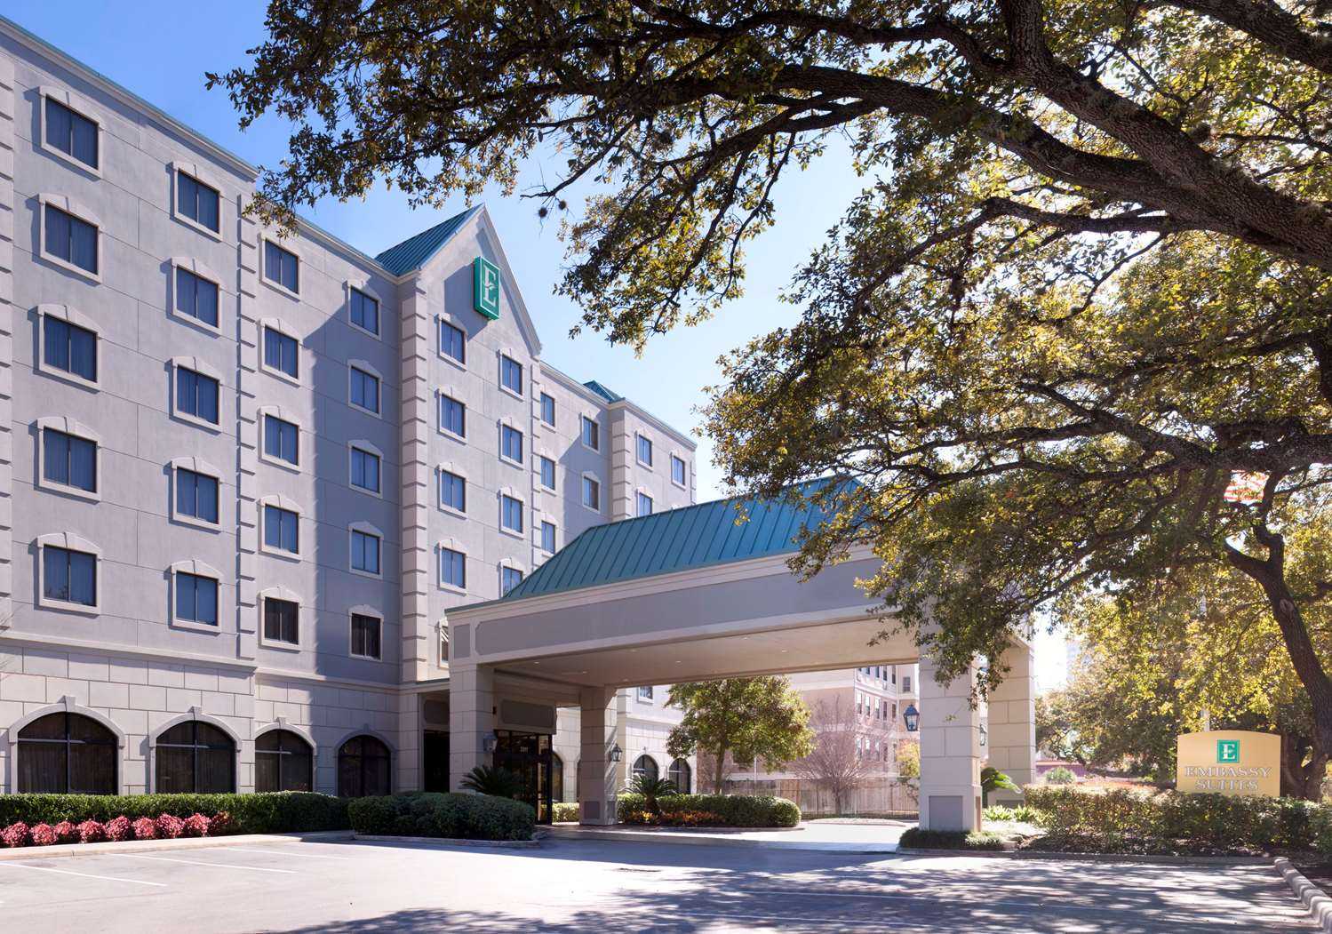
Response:
[{"label": "front right canopy column with grey base panel, nearest the tree", "polygon": [[920,826],[980,829],[980,711],[971,706],[975,662],[947,685],[920,658]]}]

